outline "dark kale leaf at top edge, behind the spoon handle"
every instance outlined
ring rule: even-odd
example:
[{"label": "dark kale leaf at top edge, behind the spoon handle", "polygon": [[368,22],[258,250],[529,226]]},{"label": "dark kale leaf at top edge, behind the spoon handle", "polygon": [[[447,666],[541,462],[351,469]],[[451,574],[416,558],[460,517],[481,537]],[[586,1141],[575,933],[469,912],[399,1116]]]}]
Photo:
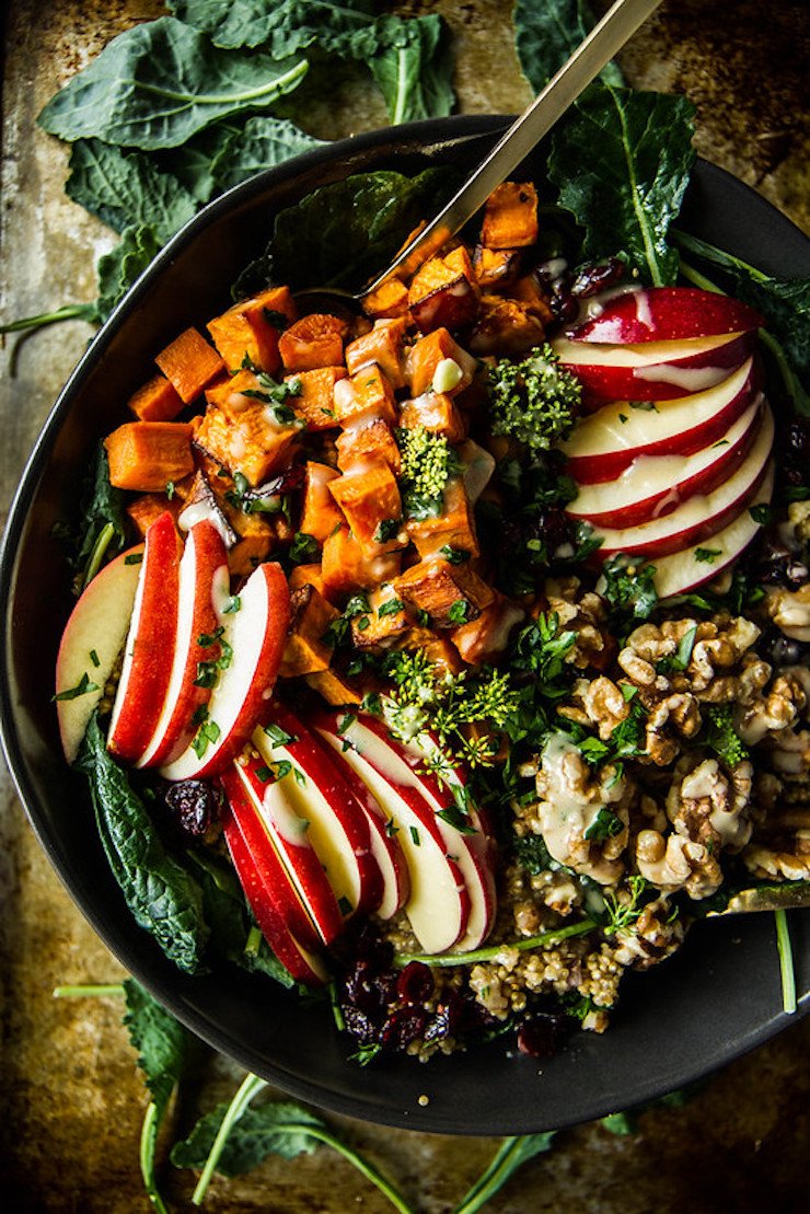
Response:
[{"label": "dark kale leaf at top edge, behind the spoon handle", "polygon": [[[545,87],[595,24],[587,0],[516,0],[512,21],[517,58],[534,92]],[[613,62],[602,68],[600,79],[624,84]]]}]

